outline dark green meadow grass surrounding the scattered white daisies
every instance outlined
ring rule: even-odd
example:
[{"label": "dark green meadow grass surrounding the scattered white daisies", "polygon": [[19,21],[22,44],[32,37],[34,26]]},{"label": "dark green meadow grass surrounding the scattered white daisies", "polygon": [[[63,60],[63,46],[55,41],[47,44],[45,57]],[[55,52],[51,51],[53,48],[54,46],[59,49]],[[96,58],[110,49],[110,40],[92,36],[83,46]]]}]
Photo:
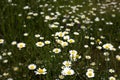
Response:
[{"label": "dark green meadow grass surrounding the scattered white daisies", "polygon": [[[97,5],[97,0],[92,0],[91,3],[93,5],[91,6],[88,0],[71,1],[13,0],[11,3],[7,2],[7,0],[0,1],[0,39],[4,39],[4,43],[0,44],[0,56],[3,57],[0,60],[0,80],[7,80],[8,78],[13,78],[13,80],[59,79],[62,71],[61,67],[63,66],[62,63],[70,60],[70,50],[76,50],[81,59],[71,61],[71,68],[75,71],[75,74],[65,76],[63,80],[109,80],[111,76],[115,77],[116,80],[120,80],[120,59],[116,59],[116,55],[120,55],[120,49],[118,48],[120,46],[120,10],[117,9],[120,7],[119,1],[115,1],[117,4],[101,1],[101,5]],[[48,6],[39,7],[45,4],[48,4]],[[109,4],[109,6],[101,9],[100,7],[105,4]],[[77,5],[82,5],[83,7],[78,7]],[[30,6],[31,8],[24,10],[24,6]],[[64,7],[60,8],[60,6]],[[78,10],[70,14],[72,6],[77,6]],[[48,10],[49,8],[51,8],[51,11]],[[96,10],[92,10],[92,8],[96,8]],[[100,14],[101,10],[105,11],[105,13]],[[93,14],[90,11],[93,11]],[[29,12],[38,13],[38,16],[32,15],[31,19],[27,19]],[[40,12],[44,12],[44,15],[40,14]],[[61,14],[57,19],[45,22],[45,16],[50,15],[54,17],[56,12]],[[55,15],[51,15],[51,13]],[[18,16],[20,14],[22,16]],[[85,19],[81,18],[82,14],[86,16]],[[69,17],[65,17],[65,15]],[[111,15],[116,15],[116,17],[112,17]],[[72,18],[72,16],[78,18],[80,24],[75,23],[74,26],[69,27],[66,24],[74,22],[75,18]],[[97,22],[95,21],[96,17],[100,19],[104,18],[105,20]],[[63,19],[66,19],[66,22],[63,22]],[[86,19],[90,19],[93,23],[84,23],[83,21]],[[53,24],[54,22],[59,23],[58,28],[49,28],[49,24]],[[112,22],[113,25],[107,25],[107,22]],[[60,26],[64,26],[64,28],[60,28]],[[82,29],[82,26],[85,26],[85,29]],[[99,31],[100,28],[102,31]],[[70,29],[68,35],[75,40],[75,43],[63,48],[56,43],[55,37],[51,35],[56,32],[65,31],[66,29]],[[74,35],[74,32],[78,32],[79,35]],[[28,33],[29,35],[23,36],[24,33]],[[35,34],[40,34],[44,39],[35,38]],[[85,39],[85,36],[94,37],[95,40]],[[101,39],[101,36],[104,36],[105,39]],[[99,45],[96,43],[97,39],[101,40],[101,47],[106,43],[111,43],[116,51],[105,50],[104,48],[97,49],[96,47]],[[45,40],[51,41],[51,44],[44,47],[37,47],[35,45],[36,42],[44,42]],[[11,45],[12,41],[17,41],[17,43],[24,42],[26,47],[19,50],[16,45]],[[95,44],[91,45],[91,42]],[[89,47],[85,48],[84,45],[88,45]],[[60,48],[61,52],[55,54],[52,51],[54,48]],[[3,55],[3,53],[8,52],[12,52],[12,55]],[[104,52],[108,52],[109,56],[105,56]],[[88,55],[91,56],[89,60],[85,58]],[[106,58],[109,58],[110,61],[105,61]],[[4,60],[8,60],[8,62],[4,63]],[[90,65],[93,62],[95,62],[95,65]],[[36,70],[31,71],[28,69],[28,65],[31,63],[37,65],[37,69],[46,68],[47,74],[36,75],[34,73]],[[18,68],[17,71],[14,70],[15,67]],[[95,76],[93,78],[86,76],[88,68],[94,69]],[[110,73],[109,69],[113,69],[115,72]],[[5,76],[4,73],[9,73],[9,75]]]}]

